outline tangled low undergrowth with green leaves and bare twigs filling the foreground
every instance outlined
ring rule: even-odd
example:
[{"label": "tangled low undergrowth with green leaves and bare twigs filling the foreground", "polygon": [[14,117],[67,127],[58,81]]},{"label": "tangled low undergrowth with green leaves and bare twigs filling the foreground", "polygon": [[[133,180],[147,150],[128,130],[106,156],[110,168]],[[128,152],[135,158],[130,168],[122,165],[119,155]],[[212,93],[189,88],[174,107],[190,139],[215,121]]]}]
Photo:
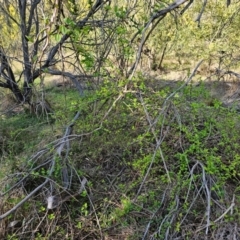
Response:
[{"label": "tangled low undergrowth with green leaves and bare twigs filling the foreground", "polygon": [[[71,185],[64,188],[63,162],[55,159],[51,184],[1,222],[1,236],[200,239],[207,235],[210,239],[214,234],[230,235],[239,226],[239,114],[213,99],[204,84],[185,86],[167,98],[180,85],[165,88],[140,76],[131,83],[106,81],[79,100],[72,90],[69,95],[51,91],[47,97],[58,109],[54,127],[25,115],[2,121],[1,135],[6,139],[2,159],[12,164],[15,175],[8,170],[2,180],[1,192],[7,194],[1,200],[1,214],[49,177],[46,159],[54,145],[47,140],[54,140],[53,133],[61,134],[76,111],[81,113],[71,150],[65,153]],[[39,145],[40,138],[45,146]],[[41,161],[29,162],[31,152],[39,147],[48,152]],[[11,159],[21,161],[21,166]],[[10,194],[20,176],[27,177]],[[88,181],[86,188],[75,196],[83,178]],[[62,199],[68,198],[52,210],[44,200],[50,187]],[[18,224],[10,227],[14,221]]]}]

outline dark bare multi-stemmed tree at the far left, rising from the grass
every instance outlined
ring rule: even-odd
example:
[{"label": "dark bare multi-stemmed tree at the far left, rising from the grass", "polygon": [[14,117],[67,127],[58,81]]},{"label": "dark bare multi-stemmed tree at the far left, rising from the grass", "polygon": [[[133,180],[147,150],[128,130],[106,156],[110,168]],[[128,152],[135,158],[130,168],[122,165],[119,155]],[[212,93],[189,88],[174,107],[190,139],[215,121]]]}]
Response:
[{"label": "dark bare multi-stemmed tree at the far left, rising from the grass", "polygon": [[[18,46],[16,54],[12,52],[8,54],[9,51],[6,51],[2,42],[0,87],[10,89],[17,102],[30,103],[34,81],[43,73],[51,72],[50,68],[56,65],[56,55],[59,54],[63,44],[73,34],[73,29],[70,28],[74,27],[79,31],[83,29],[89,19],[99,11],[103,1],[96,1],[83,18],[74,23],[69,22],[69,18],[65,18],[64,11],[67,9],[64,8],[63,1],[60,0],[54,2],[40,0],[4,1],[4,3],[1,11],[5,20],[7,19],[9,22],[9,24],[4,22],[4,26],[7,25],[11,28],[15,24],[14,30],[20,32],[16,40],[19,40],[21,44]],[[62,23],[62,17],[66,20],[65,23]],[[69,24],[74,24],[74,26],[69,26]],[[64,25],[68,26],[63,30]],[[66,32],[61,34],[58,41],[51,43],[53,42],[52,37],[57,35],[60,30],[66,30]],[[20,57],[17,57],[18,55]],[[14,73],[11,65],[11,59],[14,58],[22,64],[23,70],[20,76]],[[55,72],[55,74],[59,74],[59,72]],[[23,83],[22,87],[21,83]]]}]

